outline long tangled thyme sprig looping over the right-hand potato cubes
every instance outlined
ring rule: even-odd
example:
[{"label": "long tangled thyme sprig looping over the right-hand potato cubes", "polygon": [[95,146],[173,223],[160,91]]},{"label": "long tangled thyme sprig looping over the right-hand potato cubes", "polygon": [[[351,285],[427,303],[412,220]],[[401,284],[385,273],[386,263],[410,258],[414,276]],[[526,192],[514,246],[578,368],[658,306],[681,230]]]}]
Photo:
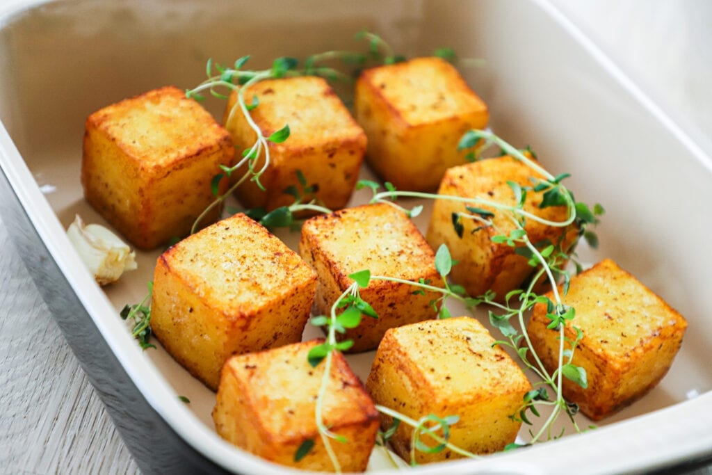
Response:
[{"label": "long tangled thyme sprig looping over the right-hand potato cubes", "polygon": [[[448,298],[456,298],[463,301],[470,309],[481,303],[487,304],[496,309],[489,310],[488,312],[490,322],[494,327],[498,328],[506,338],[506,340],[499,340],[496,344],[507,346],[515,351],[520,357],[520,360],[523,362],[523,365],[528,367],[530,370],[533,370],[533,372],[535,372],[541,380],[537,383],[537,385],[535,385],[535,389],[532,392],[525,395],[523,404],[518,410],[518,414],[513,414],[512,417],[524,422],[525,424],[531,424],[528,419],[528,413],[539,416],[540,413],[538,411],[538,407],[540,406],[550,406],[552,409],[550,416],[538,432],[531,433],[532,438],[530,443],[534,443],[538,442],[543,437],[547,437],[547,439],[557,437],[551,432],[551,428],[553,427],[555,419],[557,419],[557,417],[562,413],[567,414],[572,426],[577,432],[580,432],[580,428],[577,426],[577,423],[573,418],[577,412],[577,407],[575,404],[567,402],[563,397],[562,380],[563,378],[567,378],[568,380],[571,380],[585,388],[587,387],[587,378],[584,368],[577,367],[572,364],[572,357],[574,355],[575,348],[582,338],[581,330],[572,325],[572,328],[575,330],[577,336],[571,339],[567,338],[565,335],[565,327],[570,325],[572,320],[575,318],[575,308],[566,306],[562,301],[562,296],[567,293],[568,283],[570,281],[569,273],[562,268],[562,265],[565,261],[572,257],[572,253],[569,249],[563,249],[563,237],[559,239],[557,243],[533,243],[530,241],[527,234],[525,224],[527,221],[537,221],[547,226],[560,228],[567,228],[568,226],[575,225],[577,226],[577,229],[579,229],[580,235],[584,236],[590,244],[595,245],[597,243],[595,234],[593,234],[590,230],[587,230],[586,227],[588,224],[597,224],[598,217],[604,212],[604,210],[598,204],[593,207],[593,209],[590,209],[586,204],[576,202],[573,194],[562,184],[562,181],[569,177],[569,174],[559,174],[557,176],[550,174],[543,169],[543,167],[538,165],[538,162],[531,160],[527,154],[508,144],[508,142],[494,135],[491,131],[471,130],[467,132],[464,137],[462,137],[459,148],[460,150],[476,149],[479,153],[491,145],[497,145],[503,153],[511,155],[516,160],[523,162],[538,175],[538,177],[530,179],[531,186],[522,186],[521,184],[515,182],[508,182],[508,186],[511,188],[514,197],[515,204],[513,205],[502,204],[500,202],[495,202],[491,199],[484,199],[481,197],[458,197],[423,192],[398,191],[394,189],[392,184],[384,184],[384,187],[386,188],[385,191],[380,191],[379,184],[375,182],[360,182],[357,186],[360,188],[368,187],[372,189],[374,193],[371,199],[372,203],[387,203],[393,207],[401,209],[403,212],[406,212],[411,216],[413,214],[417,214],[419,209],[406,209],[395,202],[396,199],[401,197],[417,197],[423,199],[446,199],[454,202],[461,202],[464,204],[466,212],[457,212],[452,216],[452,224],[456,234],[462,237],[464,233],[462,220],[472,219],[479,225],[473,232],[476,232],[483,227],[491,227],[497,233],[491,237],[493,243],[511,246],[515,248],[515,252],[517,252],[517,254],[528,258],[529,265],[535,269],[533,277],[526,288],[517,289],[508,293],[504,299],[505,303],[498,303],[495,301],[496,295],[491,291],[482,296],[476,296],[473,298],[471,296],[467,296],[464,289],[459,288],[459,286],[446,286],[444,289],[438,289],[434,286],[426,287],[423,282],[412,283],[412,285],[419,288],[427,288],[427,290],[430,291],[440,291]],[[562,221],[552,221],[525,211],[523,207],[529,192],[542,193],[542,201],[539,204],[540,208],[554,206],[566,207],[566,218]],[[485,207],[486,209],[482,207]],[[494,212],[490,211],[490,209],[494,209]],[[511,224],[513,224],[513,229],[511,229],[511,231],[507,234],[503,233],[503,231],[496,227],[496,223],[493,221],[496,214],[501,214],[501,216],[506,217],[506,219],[511,221]],[[449,269],[444,267],[445,256],[449,259],[449,253],[446,254],[445,251],[442,251],[442,249],[443,248],[441,246],[441,249],[438,251],[438,254],[441,254],[440,259],[442,260],[440,263],[436,262],[436,266],[439,266],[439,271],[449,271]],[[577,268],[579,267],[580,265],[577,264]],[[447,273],[448,272],[441,272],[441,275],[446,276]],[[392,280],[383,276],[375,276],[374,278]],[[540,296],[535,293],[535,284],[542,278],[545,278],[546,281],[550,283],[553,298]],[[560,280],[563,280],[562,291],[558,288]],[[559,332],[558,340],[560,343],[558,365],[557,369],[551,373],[546,370],[543,362],[540,360],[540,357],[533,349],[533,345],[526,330],[525,315],[532,310],[533,306],[537,304],[545,304],[547,306],[546,315],[550,319],[548,328]],[[447,316],[449,316],[447,311],[439,310],[440,318],[446,318]],[[518,323],[520,330],[517,330],[515,326],[512,325],[512,320]],[[546,389],[547,387],[553,390],[555,397],[550,397]]]}]

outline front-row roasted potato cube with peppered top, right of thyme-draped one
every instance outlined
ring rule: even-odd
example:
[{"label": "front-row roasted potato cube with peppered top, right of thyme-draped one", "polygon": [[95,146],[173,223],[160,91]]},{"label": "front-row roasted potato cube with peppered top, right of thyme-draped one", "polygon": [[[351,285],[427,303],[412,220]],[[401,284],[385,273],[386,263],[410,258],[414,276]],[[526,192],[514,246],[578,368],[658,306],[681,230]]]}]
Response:
[{"label": "front-row roasted potato cube with peppered top, right of thyme-draped one", "polygon": [[[378,346],[366,388],[376,404],[412,419],[429,414],[459,416],[450,442],[474,454],[489,454],[514,442],[521,425],[511,419],[531,385],[520,367],[481,323],[458,317],[413,323],[386,332]],[[387,430],[392,418],[382,414]],[[410,459],[412,427],[400,424],[391,443]],[[423,442],[437,445],[427,435]],[[459,457],[451,449],[416,451],[425,463]]]}]

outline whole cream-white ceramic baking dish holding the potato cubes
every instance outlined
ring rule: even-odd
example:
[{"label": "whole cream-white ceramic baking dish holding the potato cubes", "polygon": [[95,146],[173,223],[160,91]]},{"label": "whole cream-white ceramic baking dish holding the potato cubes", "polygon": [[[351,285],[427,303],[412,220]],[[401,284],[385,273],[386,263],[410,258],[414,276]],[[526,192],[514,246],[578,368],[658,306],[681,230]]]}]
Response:
[{"label": "whole cream-white ceramic baking dish holding the potato cubes", "polygon": [[[264,66],[276,56],[353,49],[362,28],[409,56],[451,46],[483,58],[485,67],[464,74],[490,106],[493,130],[532,145],[550,170],[573,174],[579,199],[607,209],[600,249],[585,259],[615,259],[689,320],[661,384],[599,429],[414,471],[622,473],[709,459],[712,160],[550,4],[13,0],[0,6],[3,219],[141,468],[290,472],[222,441],[209,415],[214,395],[162,350],[143,352],[130,338],[117,310],[145,294],[157,253],[140,253],[140,270],[103,291],[70,247],[64,229],[75,214],[103,222],[79,183],[85,117],[161,85],[196,85],[208,58],[251,54]],[[219,116],[223,105],[208,107]],[[370,357],[352,358],[362,375]]]}]

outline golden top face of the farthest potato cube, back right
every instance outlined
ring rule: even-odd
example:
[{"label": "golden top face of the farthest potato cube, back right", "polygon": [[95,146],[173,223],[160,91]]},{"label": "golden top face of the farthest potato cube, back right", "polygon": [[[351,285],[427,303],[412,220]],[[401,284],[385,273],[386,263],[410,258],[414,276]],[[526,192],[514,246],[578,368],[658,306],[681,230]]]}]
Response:
[{"label": "golden top face of the farthest potato cube, back right", "polygon": [[409,125],[446,120],[453,115],[487,112],[460,73],[441,58],[414,58],[362,73],[385,102]]}]

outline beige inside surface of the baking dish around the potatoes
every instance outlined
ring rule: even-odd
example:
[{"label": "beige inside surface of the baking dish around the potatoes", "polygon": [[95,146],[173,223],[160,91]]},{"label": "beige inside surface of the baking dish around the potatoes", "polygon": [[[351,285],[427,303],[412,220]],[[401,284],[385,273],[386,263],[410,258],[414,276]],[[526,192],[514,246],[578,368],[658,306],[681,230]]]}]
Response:
[{"label": "beige inside surface of the baking dish around the potatoes", "polygon": [[[354,35],[364,28],[407,56],[449,46],[482,58],[484,66],[462,73],[488,103],[492,129],[513,145],[534,147],[553,172],[572,173],[577,198],[607,210],[597,228],[600,248],[583,248],[582,261],[616,260],[689,320],[669,374],[598,424],[606,425],[712,388],[703,357],[712,337],[705,311],[712,258],[703,233],[712,229],[712,187],[703,164],[582,46],[563,30],[541,29],[541,15],[535,4],[515,1],[58,1],[18,14],[0,31],[0,117],[62,226],[75,214],[104,224],[79,182],[86,116],[162,85],[191,88],[209,58],[231,63],[249,54],[257,68],[276,56],[359,48]],[[211,99],[206,108],[220,118],[224,103]],[[352,203],[365,199],[360,192]],[[416,220],[422,229],[427,216],[426,209]],[[278,235],[298,242],[298,233]],[[126,303],[140,301],[158,254],[137,253],[139,269],[104,289],[117,314],[99,318],[118,318]],[[316,335],[308,329],[305,338]],[[211,428],[214,394],[162,349],[145,355]],[[350,357],[362,378],[372,355]]]}]

